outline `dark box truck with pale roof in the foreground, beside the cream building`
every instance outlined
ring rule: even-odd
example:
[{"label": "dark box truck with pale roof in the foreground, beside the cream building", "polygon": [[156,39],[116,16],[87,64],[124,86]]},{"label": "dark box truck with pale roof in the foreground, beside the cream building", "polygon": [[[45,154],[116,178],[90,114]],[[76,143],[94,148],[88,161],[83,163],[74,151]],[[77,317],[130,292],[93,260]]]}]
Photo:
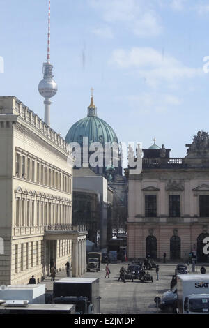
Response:
[{"label": "dark box truck with pale roof in the foreground, beside the cream building", "polygon": [[75,304],[76,313],[100,313],[99,278],[62,278],[54,281],[55,304]]}]

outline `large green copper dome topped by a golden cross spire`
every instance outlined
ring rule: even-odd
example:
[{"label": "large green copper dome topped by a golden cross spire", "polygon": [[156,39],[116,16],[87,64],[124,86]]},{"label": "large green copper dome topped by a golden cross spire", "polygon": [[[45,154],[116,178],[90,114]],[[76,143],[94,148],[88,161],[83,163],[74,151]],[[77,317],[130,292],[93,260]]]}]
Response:
[{"label": "large green copper dome topped by a golden cross spire", "polygon": [[93,103],[93,96],[91,96],[91,104],[88,107],[88,116],[71,126],[65,141],[68,143],[78,142],[82,145],[83,137],[88,137],[89,144],[100,142],[104,146],[106,142],[118,143],[116,133],[111,126],[97,117],[97,108]]}]

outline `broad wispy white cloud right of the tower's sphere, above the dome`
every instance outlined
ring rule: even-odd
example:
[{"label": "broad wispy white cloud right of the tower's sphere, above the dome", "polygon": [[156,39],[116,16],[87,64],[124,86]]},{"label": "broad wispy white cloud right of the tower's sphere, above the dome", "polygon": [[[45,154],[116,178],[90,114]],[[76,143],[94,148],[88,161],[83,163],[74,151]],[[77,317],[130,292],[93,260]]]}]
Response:
[{"label": "broad wispy white cloud right of the tower's sphere, above the dome", "polygon": [[203,73],[202,68],[189,68],[170,54],[163,54],[151,47],[132,47],[130,51],[114,50],[110,64],[129,70],[156,87],[160,82],[177,82]]}]

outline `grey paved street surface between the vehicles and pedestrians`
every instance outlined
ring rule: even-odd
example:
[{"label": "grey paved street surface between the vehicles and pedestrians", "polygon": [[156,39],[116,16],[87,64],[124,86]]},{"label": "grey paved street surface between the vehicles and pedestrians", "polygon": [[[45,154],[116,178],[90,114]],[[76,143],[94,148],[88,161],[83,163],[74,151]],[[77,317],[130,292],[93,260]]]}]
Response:
[{"label": "grey paved street surface between the vehicles and pedestrians", "polygon": [[[105,264],[101,264],[99,272],[86,272],[83,277],[100,278],[100,312],[104,314],[138,314],[138,313],[161,313],[153,301],[155,296],[161,296],[163,292],[169,290],[170,281],[174,273],[176,264],[160,263],[159,281],[156,281],[155,269],[150,270],[153,276],[153,283],[150,281],[140,282],[139,280],[118,282],[119,269],[122,265],[127,267],[127,263],[109,264],[110,278],[104,278]],[[191,269],[191,266],[188,267]],[[196,267],[199,272],[200,267]],[[207,268],[206,268],[207,269]],[[208,271],[208,270],[207,270]],[[56,274],[56,280],[66,276],[65,271]],[[47,278],[42,283],[46,283],[47,290],[53,289],[53,283]]]}]

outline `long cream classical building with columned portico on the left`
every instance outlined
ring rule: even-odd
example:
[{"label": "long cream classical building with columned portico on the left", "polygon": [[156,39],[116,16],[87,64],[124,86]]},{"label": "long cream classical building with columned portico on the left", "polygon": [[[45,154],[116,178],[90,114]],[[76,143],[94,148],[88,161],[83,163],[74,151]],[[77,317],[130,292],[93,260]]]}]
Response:
[{"label": "long cream classical building with columned portico on the left", "polygon": [[71,156],[63,138],[14,96],[0,97],[0,284],[86,267],[86,234],[72,226]]}]

